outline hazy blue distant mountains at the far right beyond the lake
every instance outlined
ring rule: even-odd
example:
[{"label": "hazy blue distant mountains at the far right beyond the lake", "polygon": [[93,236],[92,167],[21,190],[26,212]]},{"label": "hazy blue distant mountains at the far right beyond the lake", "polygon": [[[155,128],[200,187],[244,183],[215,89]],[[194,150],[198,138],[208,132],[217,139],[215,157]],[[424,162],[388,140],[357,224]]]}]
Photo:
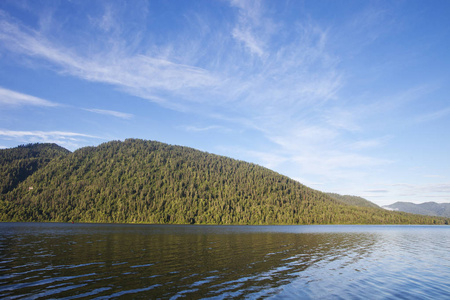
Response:
[{"label": "hazy blue distant mountains at the far right beyond the lake", "polygon": [[425,202],[414,204],[411,202],[395,202],[394,204],[383,206],[383,208],[419,215],[450,217],[450,203]]}]

